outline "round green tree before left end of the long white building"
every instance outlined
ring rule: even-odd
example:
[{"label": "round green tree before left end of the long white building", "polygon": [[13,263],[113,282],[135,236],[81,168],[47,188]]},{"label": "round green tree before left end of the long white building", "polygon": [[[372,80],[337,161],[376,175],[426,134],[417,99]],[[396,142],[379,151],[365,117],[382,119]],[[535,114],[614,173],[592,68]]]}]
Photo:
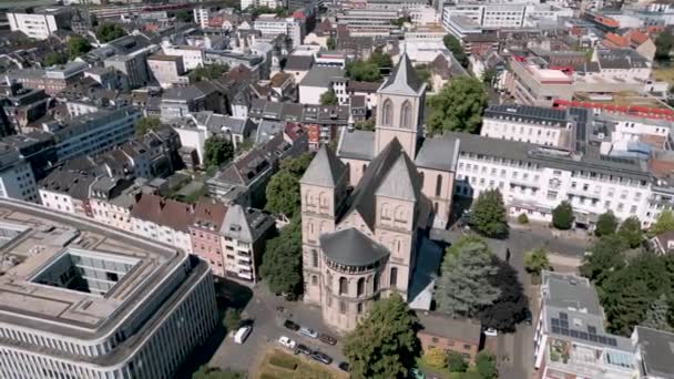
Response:
[{"label": "round green tree before left end of the long white building", "polygon": [[504,237],[508,235],[506,205],[499,190],[488,190],[480,193],[471,207],[470,226],[488,237]]}]

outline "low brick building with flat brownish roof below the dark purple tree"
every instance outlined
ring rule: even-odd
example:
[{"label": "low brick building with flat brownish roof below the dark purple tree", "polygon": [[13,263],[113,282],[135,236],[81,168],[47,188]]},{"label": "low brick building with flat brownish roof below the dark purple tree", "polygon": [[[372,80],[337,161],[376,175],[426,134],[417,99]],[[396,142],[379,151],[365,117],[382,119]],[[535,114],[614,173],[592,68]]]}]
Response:
[{"label": "low brick building with flat brownish roof below the dark purple tree", "polygon": [[482,344],[482,328],[469,319],[451,318],[441,314],[417,313],[421,329],[417,338],[421,350],[436,348],[460,354],[467,362],[474,362]]}]

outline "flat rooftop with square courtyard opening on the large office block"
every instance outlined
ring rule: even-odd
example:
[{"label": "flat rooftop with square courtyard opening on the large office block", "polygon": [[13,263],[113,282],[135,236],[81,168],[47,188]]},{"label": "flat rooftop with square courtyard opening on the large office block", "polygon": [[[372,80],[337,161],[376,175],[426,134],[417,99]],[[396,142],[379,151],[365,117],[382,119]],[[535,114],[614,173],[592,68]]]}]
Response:
[{"label": "flat rooftop with square courtyard opening on the large office block", "polygon": [[187,257],[85,218],[0,199],[0,324],[98,338]]}]

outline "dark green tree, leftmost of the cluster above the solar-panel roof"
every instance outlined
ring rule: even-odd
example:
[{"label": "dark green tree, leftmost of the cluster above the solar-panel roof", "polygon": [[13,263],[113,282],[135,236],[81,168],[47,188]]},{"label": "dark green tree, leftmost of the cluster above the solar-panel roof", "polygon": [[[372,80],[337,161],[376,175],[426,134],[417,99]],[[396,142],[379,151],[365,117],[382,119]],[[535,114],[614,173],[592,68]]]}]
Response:
[{"label": "dark green tree, leftmost of the cluster above the solar-panel roof", "polygon": [[612,272],[625,266],[626,249],[627,243],[620,235],[601,237],[590,246],[590,253],[583,256],[581,275],[601,286]]}]

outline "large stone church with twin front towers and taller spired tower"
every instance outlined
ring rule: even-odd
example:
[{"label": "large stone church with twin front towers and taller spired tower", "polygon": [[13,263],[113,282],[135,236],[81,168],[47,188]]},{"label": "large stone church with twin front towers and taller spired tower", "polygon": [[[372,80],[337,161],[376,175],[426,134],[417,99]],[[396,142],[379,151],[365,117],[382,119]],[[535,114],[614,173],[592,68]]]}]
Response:
[{"label": "large stone church with twin front towers and taller spired tower", "polygon": [[458,146],[423,137],[425,92],[404,54],[377,91],[375,131],[343,130],[300,180],[304,300],[337,330],[380,297],[412,301],[425,236],[447,226]]}]

